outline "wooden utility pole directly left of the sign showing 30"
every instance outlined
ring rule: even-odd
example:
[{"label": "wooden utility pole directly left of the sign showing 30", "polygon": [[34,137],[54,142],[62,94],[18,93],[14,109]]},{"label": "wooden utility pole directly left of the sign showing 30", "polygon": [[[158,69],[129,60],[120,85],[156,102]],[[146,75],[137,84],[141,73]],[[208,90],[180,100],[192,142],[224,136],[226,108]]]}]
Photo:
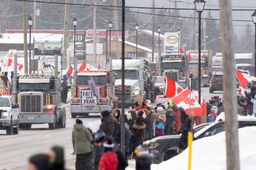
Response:
[{"label": "wooden utility pole directly left of the sign showing 30", "polygon": [[[65,15],[64,15],[64,35],[63,35],[63,53],[62,53],[62,57],[63,57],[63,69],[67,69],[67,46],[68,46],[68,42],[69,42],[69,37],[67,34],[67,29],[68,29],[68,3],[69,0],[65,0]],[[68,62],[70,64],[70,61]]]}]

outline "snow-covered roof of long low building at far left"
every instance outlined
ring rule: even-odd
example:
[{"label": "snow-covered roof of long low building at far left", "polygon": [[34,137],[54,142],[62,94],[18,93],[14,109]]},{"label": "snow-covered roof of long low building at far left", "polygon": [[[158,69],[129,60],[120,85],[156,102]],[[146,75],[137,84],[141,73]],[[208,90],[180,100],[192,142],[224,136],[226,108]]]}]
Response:
[{"label": "snow-covered roof of long low building at far left", "polygon": [[[33,43],[33,38],[35,41],[61,41],[62,37],[63,34],[32,33],[31,43]],[[29,43],[29,34],[27,34],[27,43]],[[23,34],[3,34],[0,44],[23,44]]]}]

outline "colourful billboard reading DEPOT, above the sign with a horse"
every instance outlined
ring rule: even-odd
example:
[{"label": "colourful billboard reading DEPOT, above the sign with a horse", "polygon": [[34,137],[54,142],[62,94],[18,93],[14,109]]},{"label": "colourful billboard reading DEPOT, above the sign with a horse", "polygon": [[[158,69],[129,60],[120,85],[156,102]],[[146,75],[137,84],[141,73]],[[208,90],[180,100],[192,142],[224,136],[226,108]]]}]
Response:
[{"label": "colourful billboard reading DEPOT, above the sign with a horse", "polygon": [[34,42],[34,55],[61,55],[61,42]]}]

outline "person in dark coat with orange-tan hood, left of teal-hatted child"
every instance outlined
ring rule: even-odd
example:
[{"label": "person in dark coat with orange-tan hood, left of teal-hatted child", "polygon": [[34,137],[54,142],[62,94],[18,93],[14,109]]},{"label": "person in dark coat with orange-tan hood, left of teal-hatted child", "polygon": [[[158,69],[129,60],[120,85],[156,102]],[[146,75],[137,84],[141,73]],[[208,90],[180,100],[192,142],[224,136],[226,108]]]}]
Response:
[{"label": "person in dark coat with orange-tan hood, left of teal-hatted child", "polygon": [[146,124],[146,128],[144,129],[144,141],[147,141],[151,140],[154,136],[154,113],[149,106],[145,106],[144,111],[147,114],[147,118],[143,119],[143,122]]}]

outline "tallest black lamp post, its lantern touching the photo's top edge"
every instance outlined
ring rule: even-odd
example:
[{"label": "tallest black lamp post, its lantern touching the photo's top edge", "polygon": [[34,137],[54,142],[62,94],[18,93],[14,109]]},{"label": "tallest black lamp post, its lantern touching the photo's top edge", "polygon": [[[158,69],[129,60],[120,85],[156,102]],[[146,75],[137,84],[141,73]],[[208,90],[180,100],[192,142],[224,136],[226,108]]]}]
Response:
[{"label": "tallest black lamp post, its lantern touching the photo's top edge", "polygon": [[[195,0],[194,1],[196,12],[199,15],[198,21],[198,102],[201,105],[201,13],[204,10],[205,1]],[[199,117],[199,124],[201,123],[201,118]]]}]

